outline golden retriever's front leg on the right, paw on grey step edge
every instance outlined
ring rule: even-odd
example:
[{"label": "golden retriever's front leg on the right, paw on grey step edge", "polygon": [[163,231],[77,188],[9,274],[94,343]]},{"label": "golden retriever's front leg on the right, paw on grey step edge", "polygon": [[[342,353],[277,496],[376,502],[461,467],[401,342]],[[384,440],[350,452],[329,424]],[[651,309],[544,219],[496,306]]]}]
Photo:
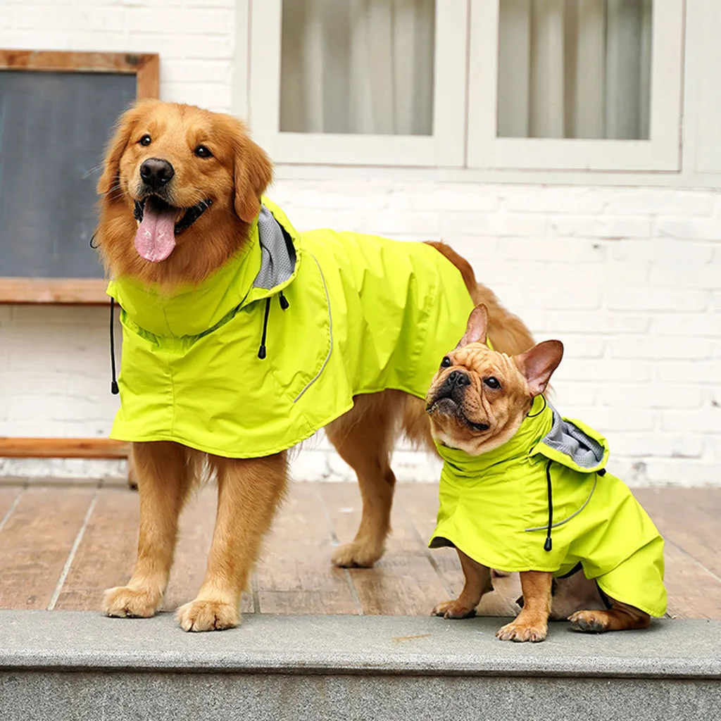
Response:
[{"label": "golden retriever's front leg on the right, paw on grey step edge", "polygon": [[285,453],[258,459],[211,456],[208,460],[218,476],[218,515],[203,585],[195,601],[177,611],[185,631],[239,624],[241,593],[286,490]]}]

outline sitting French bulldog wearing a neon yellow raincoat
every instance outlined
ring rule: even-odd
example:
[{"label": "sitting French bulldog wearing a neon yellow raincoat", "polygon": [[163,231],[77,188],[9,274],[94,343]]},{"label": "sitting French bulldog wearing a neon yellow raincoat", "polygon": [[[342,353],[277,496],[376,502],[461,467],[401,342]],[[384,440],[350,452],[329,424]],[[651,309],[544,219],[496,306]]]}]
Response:
[{"label": "sitting French bulldog wearing a neon yellow raincoat", "polygon": [[523,593],[500,640],[544,640],[554,578],[574,574],[596,583],[606,608],[570,609],[565,599],[573,629],[647,627],[666,610],[663,539],[624,482],[606,472],[606,440],[547,403],[562,342],[509,357],[486,345],[487,323],[487,309],[476,306],[426,398],[444,461],[429,545],[455,547],[465,576],[461,595],[433,614],[474,615],[495,568],[520,572]]}]

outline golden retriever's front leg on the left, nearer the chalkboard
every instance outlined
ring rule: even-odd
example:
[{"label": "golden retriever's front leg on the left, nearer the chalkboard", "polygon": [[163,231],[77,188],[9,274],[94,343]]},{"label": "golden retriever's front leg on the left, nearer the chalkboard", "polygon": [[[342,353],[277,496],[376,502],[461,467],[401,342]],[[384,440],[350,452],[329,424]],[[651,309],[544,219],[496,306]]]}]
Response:
[{"label": "golden retriever's front leg on the left, nearer the chalkboard", "polygon": [[187,449],[177,443],[133,443],[140,492],[138,559],[126,586],[105,591],[107,616],[152,616],[165,592],[173,562],[178,516],[193,482]]}]

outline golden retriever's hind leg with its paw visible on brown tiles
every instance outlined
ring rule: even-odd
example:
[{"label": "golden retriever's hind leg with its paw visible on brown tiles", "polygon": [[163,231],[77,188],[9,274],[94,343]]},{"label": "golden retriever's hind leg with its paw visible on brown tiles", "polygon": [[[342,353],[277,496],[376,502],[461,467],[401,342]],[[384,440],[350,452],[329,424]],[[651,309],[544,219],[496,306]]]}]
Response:
[{"label": "golden retriever's hind leg with its paw visible on brown tiles", "polygon": [[363,497],[355,538],[332,555],[337,566],[372,567],[383,555],[396,485],[390,456],[403,404],[404,394],[397,391],[358,396],[353,410],[326,428],[330,442],[358,476]]}]

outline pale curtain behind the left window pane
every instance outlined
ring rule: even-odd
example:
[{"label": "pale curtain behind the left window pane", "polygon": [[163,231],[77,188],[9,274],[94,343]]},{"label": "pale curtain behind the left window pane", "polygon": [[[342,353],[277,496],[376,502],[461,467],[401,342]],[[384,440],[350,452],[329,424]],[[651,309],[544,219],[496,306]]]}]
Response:
[{"label": "pale curtain behind the left window pane", "polygon": [[434,0],[283,0],[280,129],[430,135]]}]

